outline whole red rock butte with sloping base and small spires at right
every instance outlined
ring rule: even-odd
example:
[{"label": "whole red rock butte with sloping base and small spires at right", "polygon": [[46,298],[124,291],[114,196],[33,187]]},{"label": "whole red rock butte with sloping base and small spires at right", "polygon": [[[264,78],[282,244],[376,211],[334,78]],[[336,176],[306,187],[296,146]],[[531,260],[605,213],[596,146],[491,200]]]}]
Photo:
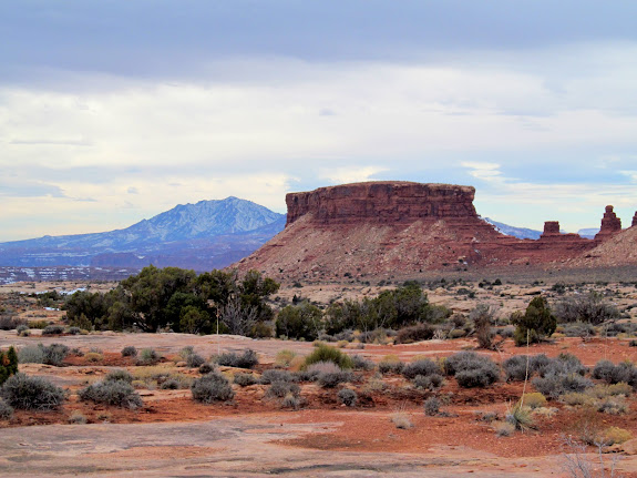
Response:
[{"label": "whole red rock butte with sloping base and small spires at right", "polygon": [[279,278],[325,279],[564,265],[621,232],[607,206],[595,240],[562,234],[557,221],[546,222],[537,241],[518,240],[483,221],[474,196],[471,186],[404,181],[290,193],[286,228],[236,266]]}]

